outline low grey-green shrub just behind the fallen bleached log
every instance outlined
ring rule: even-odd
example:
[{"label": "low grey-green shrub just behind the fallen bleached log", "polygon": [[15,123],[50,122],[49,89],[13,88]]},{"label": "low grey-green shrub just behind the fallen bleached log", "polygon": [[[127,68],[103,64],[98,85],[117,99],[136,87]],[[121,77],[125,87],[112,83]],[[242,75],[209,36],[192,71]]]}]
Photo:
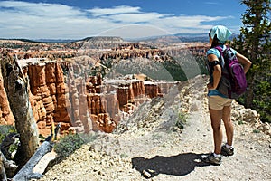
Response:
[{"label": "low grey-green shrub just behind the fallen bleached log", "polygon": [[69,134],[55,144],[54,150],[59,157],[68,157],[83,144],[84,141],[78,134]]}]

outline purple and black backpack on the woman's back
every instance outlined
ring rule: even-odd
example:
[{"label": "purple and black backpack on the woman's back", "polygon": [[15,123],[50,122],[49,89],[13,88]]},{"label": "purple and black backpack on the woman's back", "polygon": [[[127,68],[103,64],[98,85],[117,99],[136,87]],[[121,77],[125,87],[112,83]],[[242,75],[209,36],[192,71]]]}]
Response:
[{"label": "purple and black backpack on the woman's back", "polygon": [[247,80],[243,66],[238,62],[237,56],[229,46],[225,50],[215,47],[220,51],[222,76],[217,90],[230,99],[237,99],[247,90]]}]

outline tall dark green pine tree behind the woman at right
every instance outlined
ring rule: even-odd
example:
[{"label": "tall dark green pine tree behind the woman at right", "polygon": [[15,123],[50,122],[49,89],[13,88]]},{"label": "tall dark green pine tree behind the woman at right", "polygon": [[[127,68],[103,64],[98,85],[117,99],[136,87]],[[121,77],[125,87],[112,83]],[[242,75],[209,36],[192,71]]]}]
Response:
[{"label": "tall dark green pine tree behind the woman at right", "polygon": [[[238,40],[234,40],[234,46],[252,62],[247,74],[248,91],[244,100],[245,106],[251,108],[256,105],[255,93],[261,94],[256,91],[259,90],[260,84],[265,82],[266,85],[267,82],[270,85],[271,81],[270,0],[242,0],[241,4],[248,7],[242,15],[243,27],[240,29]],[[267,94],[270,94],[270,90]],[[270,98],[266,96],[266,99]]]}]

